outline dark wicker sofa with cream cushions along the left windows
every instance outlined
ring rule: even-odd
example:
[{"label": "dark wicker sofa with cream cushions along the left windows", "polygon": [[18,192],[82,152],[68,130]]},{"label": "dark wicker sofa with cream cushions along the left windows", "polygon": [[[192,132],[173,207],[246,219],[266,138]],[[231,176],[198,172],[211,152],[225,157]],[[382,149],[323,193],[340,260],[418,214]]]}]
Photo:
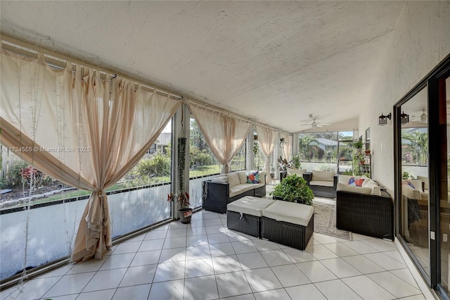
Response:
[{"label": "dark wicker sofa with cream cushions along the left windows", "polygon": [[248,171],[221,174],[203,182],[203,209],[226,213],[226,205],[243,196],[266,195],[266,174],[259,173],[259,183],[248,182]]}]

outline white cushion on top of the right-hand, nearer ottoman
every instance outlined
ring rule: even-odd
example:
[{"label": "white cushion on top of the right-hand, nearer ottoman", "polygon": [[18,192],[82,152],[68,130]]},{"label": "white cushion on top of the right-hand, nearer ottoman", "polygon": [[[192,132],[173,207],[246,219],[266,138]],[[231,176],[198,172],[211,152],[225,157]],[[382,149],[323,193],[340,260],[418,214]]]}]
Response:
[{"label": "white cushion on top of the right-hand, nearer ottoman", "polygon": [[277,221],[307,226],[314,208],[305,204],[297,204],[287,201],[275,201],[271,206],[264,208],[262,215]]}]

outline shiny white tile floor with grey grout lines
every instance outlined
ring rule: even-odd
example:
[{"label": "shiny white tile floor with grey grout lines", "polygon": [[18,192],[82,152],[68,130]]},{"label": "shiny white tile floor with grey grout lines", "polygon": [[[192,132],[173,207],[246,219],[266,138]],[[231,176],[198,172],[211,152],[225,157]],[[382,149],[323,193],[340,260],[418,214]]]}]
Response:
[{"label": "shiny white tile floor with grey grout lines", "polygon": [[393,242],[314,233],[306,251],[226,228],[200,211],[66,265],[0,299],[425,299]]}]

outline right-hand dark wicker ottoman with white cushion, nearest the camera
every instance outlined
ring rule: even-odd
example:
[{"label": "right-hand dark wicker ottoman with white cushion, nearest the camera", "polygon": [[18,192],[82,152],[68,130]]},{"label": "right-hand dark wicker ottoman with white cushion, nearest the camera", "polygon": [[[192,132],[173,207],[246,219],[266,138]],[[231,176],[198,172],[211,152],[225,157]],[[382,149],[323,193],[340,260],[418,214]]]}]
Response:
[{"label": "right-hand dark wicker ottoman with white cushion, nearest the camera", "polygon": [[262,211],[262,238],[304,250],[314,232],[313,213],[309,205],[276,201]]}]

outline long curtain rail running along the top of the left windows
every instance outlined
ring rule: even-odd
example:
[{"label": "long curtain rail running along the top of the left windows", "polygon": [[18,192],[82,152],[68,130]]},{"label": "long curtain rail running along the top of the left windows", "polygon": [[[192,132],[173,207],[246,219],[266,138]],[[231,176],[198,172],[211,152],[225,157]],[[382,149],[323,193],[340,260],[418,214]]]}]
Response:
[{"label": "long curtain rail running along the top of the left windows", "polygon": [[[183,93],[181,93],[181,92],[176,92],[176,93],[169,92],[167,89],[158,87],[158,85],[154,85],[151,82],[145,82],[143,80],[137,79],[136,77],[133,77],[130,75],[124,75],[123,73],[117,72],[116,70],[111,70],[111,69],[103,68],[103,67],[100,68],[97,65],[93,65],[92,63],[86,63],[86,61],[83,61],[82,59],[67,56],[62,51],[53,51],[52,49],[49,49],[46,46],[32,45],[32,44],[30,44],[30,42],[24,42],[15,37],[11,37],[9,35],[4,35],[3,33],[1,34],[0,39],[1,39],[1,47],[2,48],[6,49],[8,51],[12,51],[13,53],[16,53],[16,54],[37,58],[38,53],[41,52],[42,54],[44,54],[46,61],[49,64],[55,65],[60,68],[65,68],[66,61],[70,61],[70,62],[78,64],[78,65],[84,65],[87,68],[96,69],[101,73],[108,73],[111,75],[119,75],[120,77],[124,77],[125,79],[136,82],[136,84],[141,85],[141,87],[143,87],[144,89],[150,89],[150,90],[153,90],[154,92],[160,92],[167,96],[172,96],[173,99],[177,99],[177,100],[184,99],[185,101],[189,101],[192,104],[195,104],[197,106],[203,106],[204,108],[211,108],[213,111],[217,111],[219,113],[228,113],[229,115],[233,115],[234,117],[239,118],[240,120],[244,120],[245,122],[248,122],[248,123],[253,123],[255,125],[259,125],[262,127],[267,127],[271,130],[276,130],[279,132],[285,132],[278,128],[270,127],[269,125],[266,125],[264,123],[259,123],[256,120],[252,120],[250,118],[245,118],[243,115],[238,115],[237,113],[232,113],[231,111],[226,111],[222,108],[212,106],[210,104],[205,103],[204,101],[200,101],[197,99],[189,99],[187,97],[184,97]],[[290,132],[285,132],[285,133],[287,133],[288,135],[292,135]]]}]

